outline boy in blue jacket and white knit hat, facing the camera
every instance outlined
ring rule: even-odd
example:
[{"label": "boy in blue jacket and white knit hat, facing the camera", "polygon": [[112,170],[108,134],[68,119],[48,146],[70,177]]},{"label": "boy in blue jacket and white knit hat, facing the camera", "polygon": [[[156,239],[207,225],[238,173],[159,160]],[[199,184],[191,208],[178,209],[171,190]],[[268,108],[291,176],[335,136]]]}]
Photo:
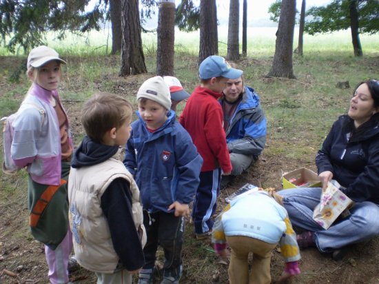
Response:
[{"label": "boy in blue jacket and white knit hat, facing the camera", "polygon": [[147,79],[137,93],[138,120],[132,123],[124,164],[141,190],[147,243],[139,284],[152,283],[158,245],[165,263],[161,283],[178,283],[184,216],[189,214],[203,159],[170,110],[170,88],[162,77]]}]

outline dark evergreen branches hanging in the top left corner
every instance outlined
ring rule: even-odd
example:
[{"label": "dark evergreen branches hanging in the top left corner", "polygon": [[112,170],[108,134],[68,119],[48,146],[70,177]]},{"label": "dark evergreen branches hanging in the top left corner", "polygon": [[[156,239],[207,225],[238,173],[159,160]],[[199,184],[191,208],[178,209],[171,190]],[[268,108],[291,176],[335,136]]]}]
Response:
[{"label": "dark evergreen branches hanging in the top left corner", "polygon": [[[45,43],[45,33],[48,31],[57,32],[57,38],[64,39],[68,30],[99,30],[100,20],[107,9],[107,0],[103,4],[99,0],[92,11],[84,12],[89,1],[1,1],[1,43],[11,52],[21,46],[26,53],[29,48]],[[8,37],[10,39],[7,42]]]}]

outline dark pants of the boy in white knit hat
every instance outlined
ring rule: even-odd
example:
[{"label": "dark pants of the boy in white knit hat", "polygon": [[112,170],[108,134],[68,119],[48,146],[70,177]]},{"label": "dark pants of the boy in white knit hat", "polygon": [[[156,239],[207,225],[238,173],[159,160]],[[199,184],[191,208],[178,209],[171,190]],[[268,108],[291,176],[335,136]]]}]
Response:
[{"label": "dark pants of the boy in white knit hat", "polygon": [[163,247],[165,263],[164,276],[178,278],[181,273],[181,252],[184,234],[184,217],[176,217],[174,213],[143,211],[143,225],[147,232],[147,243],[143,248],[145,265],[143,271],[154,268],[158,245]]}]

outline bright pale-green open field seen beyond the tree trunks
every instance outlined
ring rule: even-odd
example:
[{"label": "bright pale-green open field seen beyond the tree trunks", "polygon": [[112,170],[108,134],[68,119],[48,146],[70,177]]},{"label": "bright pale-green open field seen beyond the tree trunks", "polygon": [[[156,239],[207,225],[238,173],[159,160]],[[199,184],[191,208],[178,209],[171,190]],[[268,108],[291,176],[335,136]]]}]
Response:
[{"label": "bright pale-green open field seen beyond the tree trunks", "polygon": [[[248,28],[247,30],[247,56],[248,57],[271,57],[275,52],[276,28]],[[175,50],[194,56],[198,55],[200,32],[180,32],[176,29]],[[46,38],[48,45],[65,54],[94,55],[110,52],[112,47],[112,32],[110,30],[92,31],[83,36],[68,34],[63,40],[58,40],[54,33]],[[142,34],[145,54],[156,52],[156,32]],[[218,27],[219,53],[225,56],[227,53],[227,27]],[[360,34],[362,49],[365,53],[379,52],[378,35]],[[294,48],[298,43],[298,28],[295,28]],[[240,44],[242,41],[240,40]],[[327,34],[311,36],[304,35],[304,51],[306,52],[345,52],[353,57],[350,30],[342,30]],[[22,54],[23,50],[18,50]],[[0,56],[12,55],[5,48],[0,47]],[[316,55],[316,54],[315,54]]]}]

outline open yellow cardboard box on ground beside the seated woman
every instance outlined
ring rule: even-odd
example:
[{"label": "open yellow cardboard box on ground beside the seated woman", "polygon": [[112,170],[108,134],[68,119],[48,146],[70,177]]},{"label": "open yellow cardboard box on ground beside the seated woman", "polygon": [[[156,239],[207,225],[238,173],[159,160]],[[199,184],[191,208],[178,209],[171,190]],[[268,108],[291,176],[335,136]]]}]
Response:
[{"label": "open yellow cardboard box on ground beside the seated woman", "polygon": [[283,189],[294,187],[320,187],[321,182],[316,172],[300,168],[282,176]]}]

